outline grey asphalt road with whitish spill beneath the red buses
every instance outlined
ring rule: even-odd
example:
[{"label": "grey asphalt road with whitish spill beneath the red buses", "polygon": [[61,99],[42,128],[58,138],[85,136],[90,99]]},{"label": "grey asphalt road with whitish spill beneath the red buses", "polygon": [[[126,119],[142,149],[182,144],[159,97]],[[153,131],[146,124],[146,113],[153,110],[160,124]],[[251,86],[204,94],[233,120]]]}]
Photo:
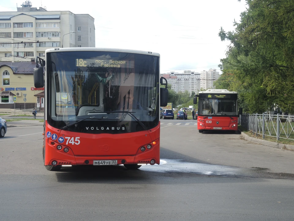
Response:
[{"label": "grey asphalt road with whitish spill beneath the red buses", "polygon": [[0,139],[0,219],[293,220],[294,152],[173,121],[161,121],[160,165],[136,171],[47,171],[42,126],[9,128]]}]

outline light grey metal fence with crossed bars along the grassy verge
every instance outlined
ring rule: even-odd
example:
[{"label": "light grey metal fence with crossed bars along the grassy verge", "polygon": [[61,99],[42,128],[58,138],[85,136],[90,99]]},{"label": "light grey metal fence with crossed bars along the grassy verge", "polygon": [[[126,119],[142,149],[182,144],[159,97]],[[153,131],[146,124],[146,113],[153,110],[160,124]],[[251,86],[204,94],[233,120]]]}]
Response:
[{"label": "light grey metal fence with crossed bars along the grassy verge", "polygon": [[294,116],[280,114],[242,114],[239,124],[253,134],[294,140]]}]

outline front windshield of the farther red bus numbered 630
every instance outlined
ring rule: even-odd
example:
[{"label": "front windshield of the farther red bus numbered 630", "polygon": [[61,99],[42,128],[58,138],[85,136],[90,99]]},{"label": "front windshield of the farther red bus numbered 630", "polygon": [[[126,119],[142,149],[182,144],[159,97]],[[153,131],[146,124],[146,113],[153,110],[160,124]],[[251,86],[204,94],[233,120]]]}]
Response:
[{"label": "front windshield of the farther red bus numbered 630", "polygon": [[237,100],[199,98],[198,115],[237,115]]}]

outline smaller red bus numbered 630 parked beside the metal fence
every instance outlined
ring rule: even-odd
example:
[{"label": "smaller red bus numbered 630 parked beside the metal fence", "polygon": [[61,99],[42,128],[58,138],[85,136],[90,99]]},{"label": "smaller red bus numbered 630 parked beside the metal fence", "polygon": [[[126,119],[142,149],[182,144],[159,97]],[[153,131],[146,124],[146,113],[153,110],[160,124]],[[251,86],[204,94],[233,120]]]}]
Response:
[{"label": "smaller red bus numbered 630 parked beside the metal fence", "polygon": [[[195,95],[198,97],[197,129],[199,133],[207,130],[238,130],[238,94],[225,89],[209,89]],[[242,114],[242,108],[239,108]]]}]

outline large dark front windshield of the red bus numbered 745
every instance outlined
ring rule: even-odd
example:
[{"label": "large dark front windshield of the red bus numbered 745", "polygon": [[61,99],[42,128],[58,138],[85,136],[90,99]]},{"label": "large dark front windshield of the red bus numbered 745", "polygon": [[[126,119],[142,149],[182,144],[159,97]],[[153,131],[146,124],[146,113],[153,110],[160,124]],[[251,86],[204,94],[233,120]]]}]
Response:
[{"label": "large dark front windshield of the red bus numbered 745", "polygon": [[50,52],[46,59],[51,126],[87,118],[67,130],[126,133],[144,130],[142,123],[145,129],[158,125],[158,56],[71,51]]}]

